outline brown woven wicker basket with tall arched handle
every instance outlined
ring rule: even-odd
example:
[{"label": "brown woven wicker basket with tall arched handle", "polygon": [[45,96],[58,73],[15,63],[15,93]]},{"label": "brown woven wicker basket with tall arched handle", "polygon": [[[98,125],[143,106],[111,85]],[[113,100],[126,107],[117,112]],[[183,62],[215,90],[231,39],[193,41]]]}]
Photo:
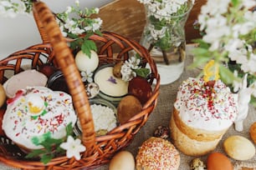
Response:
[{"label": "brown woven wicker basket with tall arched handle", "polygon": [[128,122],[111,130],[106,135],[96,137],[90,112],[90,102],[86,96],[79,71],[75,66],[74,56],[67,45],[67,40],[62,37],[54,15],[44,2],[34,2],[33,14],[43,43],[14,52],[0,61],[0,82],[5,82],[7,74],[10,72],[13,72],[13,74],[22,72],[25,69],[23,68],[24,62],[31,63],[29,67],[33,69],[38,69],[45,62],[54,63],[64,73],[69,86],[69,92],[73,97],[74,107],[84,132],[82,134],[82,142],[87,150],[82,153],[79,161],[63,156],[54,158],[50,163],[44,165],[38,160],[25,159],[25,154],[10,139],[3,136],[0,138],[0,161],[9,166],[23,169],[86,169],[108,163],[114,153],[131,143],[136,133],[146,123],[150,113],[156,107],[160,77],[157,73],[155,62],[138,42],[128,40],[115,33],[104,32],[102,37],[97,35],[90,37],[99,46],[100,64],[125,60],[129,57],[129,52],[136,51],[143,58],[145,65],[148,63],[151,67],[149,82],[156,82],[152,95],[143,105],[141,112],[138,112]]}]

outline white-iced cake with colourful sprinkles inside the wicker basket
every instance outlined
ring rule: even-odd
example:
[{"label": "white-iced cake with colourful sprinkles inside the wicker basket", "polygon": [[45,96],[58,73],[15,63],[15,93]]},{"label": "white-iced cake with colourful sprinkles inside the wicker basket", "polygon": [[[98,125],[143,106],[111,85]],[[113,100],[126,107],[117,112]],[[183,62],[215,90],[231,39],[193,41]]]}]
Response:
[{"label": "white-iced cake with colourful sprinkles inside the wicker basket", "polygon": [[3,130],[14,143],[38,149],[43,146],[34,145],[33,137],[50,132],[52,138],[64,138],[65,128],[70,122],[74,126],[76,119],[69,94],[47,87],[27,87],[8,99]]}]

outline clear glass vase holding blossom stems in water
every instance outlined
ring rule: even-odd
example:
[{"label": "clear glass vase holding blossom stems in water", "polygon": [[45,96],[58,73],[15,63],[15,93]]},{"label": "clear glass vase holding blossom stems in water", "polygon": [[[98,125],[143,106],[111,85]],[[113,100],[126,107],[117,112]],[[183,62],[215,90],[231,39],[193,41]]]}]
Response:
[{"label": "clear glass vase holding blossom stems in water", "polygon": [[182,13],[162,16],[145,5],[146,25],[141,45],[151,53],[161,76],[161,85],[176,81],[184,70],[186,58],[185,24],[192,9],[188,1]]}]

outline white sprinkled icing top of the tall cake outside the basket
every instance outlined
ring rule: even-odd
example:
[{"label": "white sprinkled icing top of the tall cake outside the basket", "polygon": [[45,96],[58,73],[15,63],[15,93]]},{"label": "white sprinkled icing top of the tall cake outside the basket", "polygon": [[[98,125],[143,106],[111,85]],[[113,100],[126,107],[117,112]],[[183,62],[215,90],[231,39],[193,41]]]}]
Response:
[{"label": "white sprinkled icing top of the tall cake outside the basket", "polygon": [[[202,79],[189,77],[179,87],[174,107],[182,122],[207,131],[230,127],[237,117],[237,102],[233,93],[220,80],[215,82],[213,92],[204,83]],[[212,99],[209,100],[209,97]]]}]

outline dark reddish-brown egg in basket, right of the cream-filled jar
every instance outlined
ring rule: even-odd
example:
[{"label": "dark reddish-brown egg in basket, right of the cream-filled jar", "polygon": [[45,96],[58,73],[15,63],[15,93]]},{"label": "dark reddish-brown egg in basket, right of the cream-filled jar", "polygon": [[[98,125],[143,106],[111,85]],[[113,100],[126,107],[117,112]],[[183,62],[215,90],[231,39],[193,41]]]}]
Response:
[{"label": "dark reddish-brown egg in basket, right of the cream-filled jar", "polygon": [[134,77],[128,85],[128,93],[137,97],[145,104],[152,95],[151,84],[143,77]]}]

